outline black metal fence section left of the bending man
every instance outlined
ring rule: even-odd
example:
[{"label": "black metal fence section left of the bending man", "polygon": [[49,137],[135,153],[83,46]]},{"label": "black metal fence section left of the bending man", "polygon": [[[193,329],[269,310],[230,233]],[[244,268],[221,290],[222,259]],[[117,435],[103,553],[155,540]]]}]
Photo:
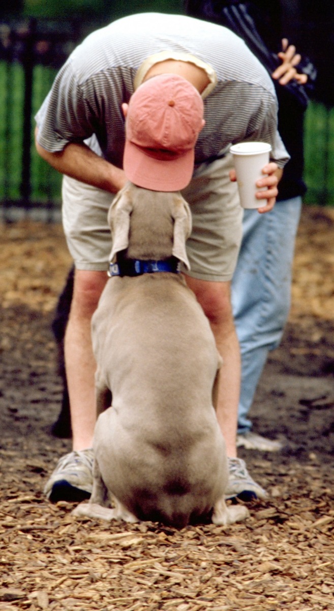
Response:
[{"label": "black metal fence section left of the bending man", "polygon": [[0,23],[0,211],[60,206],[60,175],[34,147],[34,115],[57,70],[77,43],[97,27],[30,19]]}]

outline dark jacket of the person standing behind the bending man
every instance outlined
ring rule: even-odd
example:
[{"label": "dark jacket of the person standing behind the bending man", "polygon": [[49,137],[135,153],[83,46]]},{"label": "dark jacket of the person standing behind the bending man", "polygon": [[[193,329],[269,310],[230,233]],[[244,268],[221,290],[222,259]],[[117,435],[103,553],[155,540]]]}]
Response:
[{"label": "dark jacket of the person standing behind the bending man", "polygon": [[[282,48],[281,40],[285,34],[279,0],[186,0],[185,9],[188,15],[229,27],[243,38],[270,74],[281,63],[277,53]],[[307,86],[299,86],[295,81],[282,86],[273,79],[279,101],[279,133],[291,156],[279,183],[277,200],[302,196],[306,191],[303,180],[304,113],[308,103],[307,92],[313,86],[316,72],[307,57],[302,57],[297,70],[307,73]]]}]

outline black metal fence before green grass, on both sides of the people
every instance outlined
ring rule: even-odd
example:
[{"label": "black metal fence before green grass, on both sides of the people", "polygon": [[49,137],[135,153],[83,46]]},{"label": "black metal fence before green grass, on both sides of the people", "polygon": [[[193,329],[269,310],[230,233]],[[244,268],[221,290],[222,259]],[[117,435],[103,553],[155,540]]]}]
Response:
[{"label": "black metal fence before green grass, on both sides of the people", "polygon": [[[0,215],[40,210],[52,219],[60,209],[61,177],[35,152],[34,115],[55,73],[82,38],[83,27],[27,20],[0,23]],[[305,120],[305,202],[334,205],[334,110],[310,104]]]}]

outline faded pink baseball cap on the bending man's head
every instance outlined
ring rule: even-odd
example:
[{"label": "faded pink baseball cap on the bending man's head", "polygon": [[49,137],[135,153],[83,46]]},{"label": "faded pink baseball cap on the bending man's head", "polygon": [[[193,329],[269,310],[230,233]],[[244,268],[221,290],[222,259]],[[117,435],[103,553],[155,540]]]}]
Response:
[{"label": "faded pink baseball cap on the bending man's head", "polygon": [[193,175],[203,113],[201,95],[182,76],[163,74],[144,81],[127,110],[127,178],[151,191],[184,189]]}]

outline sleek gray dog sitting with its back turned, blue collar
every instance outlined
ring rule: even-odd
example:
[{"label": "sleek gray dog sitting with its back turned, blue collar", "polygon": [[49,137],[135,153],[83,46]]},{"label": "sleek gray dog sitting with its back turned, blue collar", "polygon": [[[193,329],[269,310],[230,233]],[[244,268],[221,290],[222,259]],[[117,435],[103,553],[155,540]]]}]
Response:
[{"label": "sleek gray dog sitting with its back turned, blue collar", "polygon": [[190,208],[179,192],[127,183],[108,223],[118,263],[92,323],[93,492],[74,514],[175,527],[210,514],[215,524],[240,521],[247,508],[224,499],[226,448],[213,406],[221,358],[176,269],[189,268]]}]

